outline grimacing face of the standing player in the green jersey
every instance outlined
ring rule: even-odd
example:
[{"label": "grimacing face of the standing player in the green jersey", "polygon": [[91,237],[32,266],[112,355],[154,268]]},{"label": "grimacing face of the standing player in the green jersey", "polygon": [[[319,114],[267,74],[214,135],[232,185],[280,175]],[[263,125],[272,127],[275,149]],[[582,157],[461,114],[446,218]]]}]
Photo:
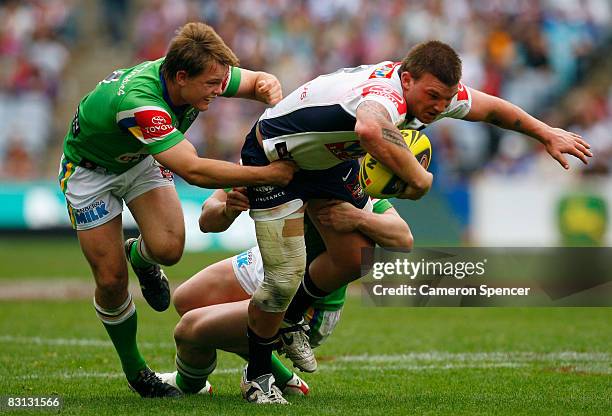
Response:
[{"label": "grimacing face of the standing player in the green jersey", "polygon": [[222,92],[227,71],[227,65],[213,63],[199,75],[185,76],[181,83],[181,98],[199,111],[208,110],[208,105]]}]

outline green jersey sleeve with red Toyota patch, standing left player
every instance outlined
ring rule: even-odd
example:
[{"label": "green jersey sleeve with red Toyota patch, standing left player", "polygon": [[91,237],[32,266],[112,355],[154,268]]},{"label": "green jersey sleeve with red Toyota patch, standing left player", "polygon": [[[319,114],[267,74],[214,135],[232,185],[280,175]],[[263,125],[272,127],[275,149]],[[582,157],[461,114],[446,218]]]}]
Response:
[{"label": "green jersey sleeve with red Toyota patch, standing left player", "polygon": [[185,138],[172,123],[172,116],[158,101],[126,97],[117,112],[116,121],[154,155],[170,149]]}]

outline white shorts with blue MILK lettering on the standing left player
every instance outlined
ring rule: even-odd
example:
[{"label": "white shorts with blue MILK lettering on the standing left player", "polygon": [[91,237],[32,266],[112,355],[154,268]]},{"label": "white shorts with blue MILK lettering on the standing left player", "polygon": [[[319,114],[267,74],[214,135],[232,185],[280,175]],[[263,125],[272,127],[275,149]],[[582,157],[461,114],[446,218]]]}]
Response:
[{"label": "white shorts with blue MILK lettering on the standing left player", "polygon": [[60,163],[60,187],[66,197],[68,215],[76,230],[106,224],[123,212],[123,202],[162,186],[174,186],[172,173],[152,156],[128,171],[116,174],[103,168],[74,166],[64,155]]}]

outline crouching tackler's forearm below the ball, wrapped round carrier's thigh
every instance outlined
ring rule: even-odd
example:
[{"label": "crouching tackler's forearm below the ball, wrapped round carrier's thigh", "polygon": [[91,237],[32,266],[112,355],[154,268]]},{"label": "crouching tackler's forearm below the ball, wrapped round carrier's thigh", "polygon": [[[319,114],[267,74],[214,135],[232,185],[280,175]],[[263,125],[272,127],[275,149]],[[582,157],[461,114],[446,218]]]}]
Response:
[{"label": "crouching tackler's forearm below the ball, wrapped round carrier's thigh", "polygon": [[410,227],[393,207],[376,214],[333,200],[317,212],[317,218],[338,232],[360,231],[381,247],[412,248],[414,242]]}]

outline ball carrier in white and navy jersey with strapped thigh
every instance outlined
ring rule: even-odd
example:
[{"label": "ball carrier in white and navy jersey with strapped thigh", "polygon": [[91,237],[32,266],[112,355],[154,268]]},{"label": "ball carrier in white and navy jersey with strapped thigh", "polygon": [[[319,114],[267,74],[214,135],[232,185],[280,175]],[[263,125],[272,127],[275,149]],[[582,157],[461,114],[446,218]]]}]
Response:
[{"label": "ball carrier in white and navy jersey with strapped thigh", "polygon": [[[408,151],[398,127],[421,130],[444,117],[484,121],[526,134],[541,142],[565,169],[569,165],[564,154],[584,163],[591,156],[589,144],[579,135],[553,128],[503,99],[464,85],[459,56],[439,41],[415,46],[402,62],[319,76],[266,110],[246,137],[243,164],[293,160],[301,169],[285,187],[248,188],[265,277],[249,304],[249,363],[242,383],[247,386],[243,389],[247,400],[255,397],[246,396],[250,387],[259,386],[261,395],[268,394],[270,351],[281,323],[299,328],[296,320],[302,319],[314,299],[359,276],[363,237],[338,233],[317,220],[325,199],[344,200],[358,208],[366,203],[357,169],[347,161],[369,152],[407,184],[400,198],[418,199],[429,190],[433,177]],[[308,269],[302,227],[305,209],[327,247]],[[292,340],[283,349],[294,364],[316,370],[306,338],[299,333],[281,336],[285,337]]]}]

